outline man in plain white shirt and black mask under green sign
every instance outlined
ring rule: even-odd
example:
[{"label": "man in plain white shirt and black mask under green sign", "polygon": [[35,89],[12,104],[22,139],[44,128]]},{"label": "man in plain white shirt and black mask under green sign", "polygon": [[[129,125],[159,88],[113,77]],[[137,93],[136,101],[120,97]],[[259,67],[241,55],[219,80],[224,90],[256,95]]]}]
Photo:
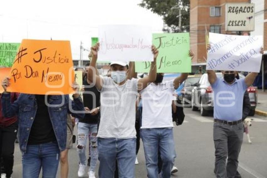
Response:
[{"label": "man in plain white shirt and black mask under green sign", "polygon": [[[192,57],[193,53],[189,52],[189,55]],[[149,178],[159,177],[159,152],[162,160],[160,176],[171,177],[176,157],[172,132],[172,98],[174,90],[187,79],[188,73],[183,73],[171,81],[162,81],[163,76],[163,73],[158,73],[156,80],[141,91],[141,138]]]}]

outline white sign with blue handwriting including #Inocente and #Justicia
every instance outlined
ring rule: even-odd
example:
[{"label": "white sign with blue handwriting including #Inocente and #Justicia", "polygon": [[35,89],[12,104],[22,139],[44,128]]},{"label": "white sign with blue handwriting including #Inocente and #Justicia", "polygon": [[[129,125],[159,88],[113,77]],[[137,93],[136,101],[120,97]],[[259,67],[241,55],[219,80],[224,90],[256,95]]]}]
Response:
[{"label": "white sign with blue handwriting including #Inocente and #Justicia", "polygon": [[210,33],[207,70],[259,72],[262,36],[237,36]]}]

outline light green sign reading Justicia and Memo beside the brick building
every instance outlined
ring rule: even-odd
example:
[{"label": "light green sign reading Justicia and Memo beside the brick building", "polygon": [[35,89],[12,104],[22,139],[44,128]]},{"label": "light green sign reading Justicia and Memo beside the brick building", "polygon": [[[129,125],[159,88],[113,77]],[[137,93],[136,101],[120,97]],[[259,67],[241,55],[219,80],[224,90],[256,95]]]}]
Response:
[{"label": "light green sign reading Justicia and Memo beside the brick building", "polygon": [[[157,57],[158,73],[191,72],[189,33],[153,34],[152,43],[159,50]],[[135,72],[149,72],[149,61],[135,62]]]}]

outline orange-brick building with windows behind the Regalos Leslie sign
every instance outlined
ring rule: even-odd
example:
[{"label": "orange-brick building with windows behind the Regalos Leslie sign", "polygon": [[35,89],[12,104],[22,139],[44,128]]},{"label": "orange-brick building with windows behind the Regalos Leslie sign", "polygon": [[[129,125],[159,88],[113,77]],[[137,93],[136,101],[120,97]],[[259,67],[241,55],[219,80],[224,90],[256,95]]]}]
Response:
[{"label": "orange-brick building with windows behind the Regalos Leslie sign", "polygon": [[238,31],[225,31],[226,3],[250,3],[250,0],[190,1],[190,47],[195,53],[195,57],[192,60],[192,72],[197,70],[199,65],[204,68],[206,65],[206,29],[208,32],[213,33],[233,35],[237,35],[239,33]]}]

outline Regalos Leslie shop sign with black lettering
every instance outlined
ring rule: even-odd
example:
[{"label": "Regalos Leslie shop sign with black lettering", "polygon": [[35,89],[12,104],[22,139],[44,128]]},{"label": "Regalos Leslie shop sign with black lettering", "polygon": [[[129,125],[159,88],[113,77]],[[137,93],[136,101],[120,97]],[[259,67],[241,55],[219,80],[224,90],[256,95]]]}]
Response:
[{"label": "Regalos Leslie shop sign with black lettering", "polygon": [[253,3],[226,4],[226,31],[254,31],[255,5]]}]

